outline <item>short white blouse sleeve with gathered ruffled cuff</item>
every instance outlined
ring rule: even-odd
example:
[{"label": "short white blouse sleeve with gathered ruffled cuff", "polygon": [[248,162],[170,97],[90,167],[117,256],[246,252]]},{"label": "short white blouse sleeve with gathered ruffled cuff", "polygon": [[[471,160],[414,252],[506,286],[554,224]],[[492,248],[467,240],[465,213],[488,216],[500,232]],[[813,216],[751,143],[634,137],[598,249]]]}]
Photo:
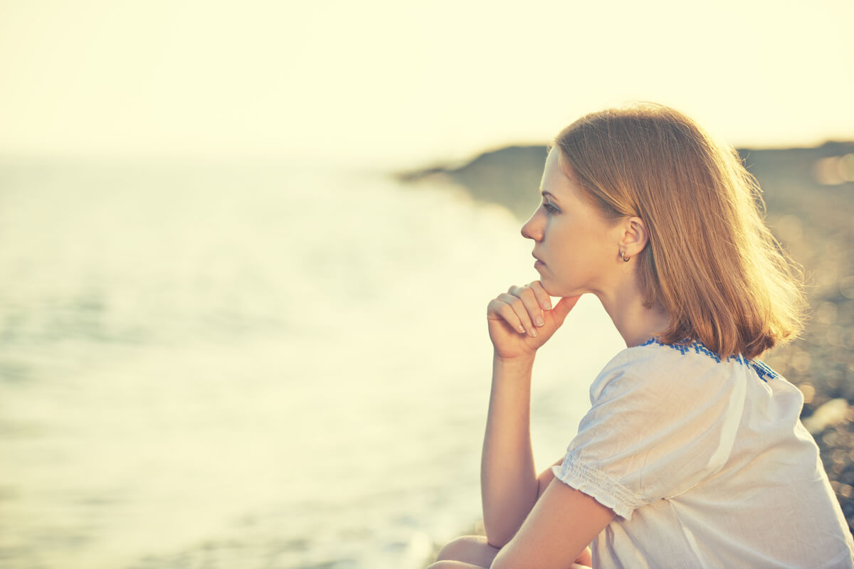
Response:
[{"label": "short white blouse sleeve with gathered ruffled cuff", "polygon": [[654,348],[623,354],[594,380],[591,409],[553,472],[630,519],[635,509],[681,494],[723,467],[747,378],[713,367],[726,364],[698,364]]}]

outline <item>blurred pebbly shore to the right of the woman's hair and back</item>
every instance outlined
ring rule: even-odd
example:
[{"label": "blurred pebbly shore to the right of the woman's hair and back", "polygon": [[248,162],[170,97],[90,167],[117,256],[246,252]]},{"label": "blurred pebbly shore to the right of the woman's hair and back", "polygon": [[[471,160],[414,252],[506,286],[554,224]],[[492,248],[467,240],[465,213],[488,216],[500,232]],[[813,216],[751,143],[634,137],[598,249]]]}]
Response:
[{"label": "blurred pebbly shore to the right of the woman's hair and back", "polygon": [[[762,184],[769,227],[803,266],[810,303],[804,332],[764,359],[804,393],[801,420],[816,439],[854,531],[854,258],[849,254],[854,246],[854,183],[847,179],[854,171],[851,151],[849,144],[817,157],[806,151],[744,154]],[[843,170],[842,175],[825,171],[828,167]]]}]

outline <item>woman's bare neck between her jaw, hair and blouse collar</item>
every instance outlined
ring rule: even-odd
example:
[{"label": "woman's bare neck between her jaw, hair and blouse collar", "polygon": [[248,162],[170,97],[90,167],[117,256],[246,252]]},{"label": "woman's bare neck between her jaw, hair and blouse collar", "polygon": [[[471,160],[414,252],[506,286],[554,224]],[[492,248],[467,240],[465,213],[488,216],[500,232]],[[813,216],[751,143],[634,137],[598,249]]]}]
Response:
[{"label": "woman's bare neck between her jaw, hair and blouse collar", "polygon": [[629,348],[661,334],[670,324],[663,306],[656,304],[646,308],[643,305],[643,296],[634,279],[627,279],[616,290],[600,292],[597,296]]}]

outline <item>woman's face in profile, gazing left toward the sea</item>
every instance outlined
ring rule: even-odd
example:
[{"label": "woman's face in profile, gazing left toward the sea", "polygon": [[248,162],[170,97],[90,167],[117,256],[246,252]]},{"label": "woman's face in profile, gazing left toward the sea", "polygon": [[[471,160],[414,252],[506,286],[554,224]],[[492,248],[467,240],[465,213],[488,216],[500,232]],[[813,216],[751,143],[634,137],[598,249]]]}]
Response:
[{"label": "woman's face in profile, gazing left toward the sea", "polygon": [[600,293],[616,276],[619,226],[605,220],[552,148],[540,184],[542,202],[522,227],[534,240],[535,268],[552,296]]}]

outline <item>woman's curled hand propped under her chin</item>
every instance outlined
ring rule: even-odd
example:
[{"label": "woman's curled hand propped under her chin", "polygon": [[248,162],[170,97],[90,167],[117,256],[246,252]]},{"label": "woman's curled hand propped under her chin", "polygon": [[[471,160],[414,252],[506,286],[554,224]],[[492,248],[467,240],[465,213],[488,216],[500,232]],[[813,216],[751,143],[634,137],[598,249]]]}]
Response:
[{"label": "woman's curled hand propped under her chin", "polygon": [[539,281],[526,287],[510,287],[499,294],[489,302],[486,313],[495,355],[502,359],[533,357],[564,323],[578,299],[577,296],[560,299],[552,308],[551,299]]}]

